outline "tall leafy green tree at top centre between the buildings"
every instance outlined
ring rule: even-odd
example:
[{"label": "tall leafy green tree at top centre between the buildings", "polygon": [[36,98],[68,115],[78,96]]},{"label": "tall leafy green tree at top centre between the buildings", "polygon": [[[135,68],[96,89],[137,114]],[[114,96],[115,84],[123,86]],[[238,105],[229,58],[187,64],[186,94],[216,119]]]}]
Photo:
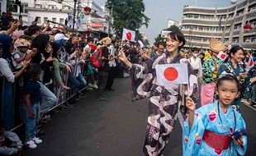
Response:
[{"label": "tall leafy green tree at top centre between the buildings", "polygon": [[141,39],[137,31],[141,25],[148,27],[149,17],[145,16],[145,3],[143,0],[107,0],[107,7],[114,18],[113,28],[121,37],[123,28],[136,30],[136,36]]}]

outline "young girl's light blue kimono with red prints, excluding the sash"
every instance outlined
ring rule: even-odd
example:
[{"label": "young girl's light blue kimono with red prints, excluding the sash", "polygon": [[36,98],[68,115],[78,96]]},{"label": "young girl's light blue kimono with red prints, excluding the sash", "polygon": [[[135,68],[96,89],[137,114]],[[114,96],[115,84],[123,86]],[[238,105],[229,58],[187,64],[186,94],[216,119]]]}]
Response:
[{"label": "young girl's light blue kimono with red prints, excluding the sash", "polygon": [[[220,112],[218,113],[218,110]],[[222,124],[221,124],[222,122]],[[223,112],[218,104],[207,104],[195,111],[192,128],[189,128],[188,117],[183,126],[183,155],[184,156],[236,156],[237,153],[244,155],[247,148],[247,137],[243,135],[244,148],[235,145],[230,141],[230,148],[216,149],[206,144],[203,135],[205,131],[212,131],[218,135],[232,135],[235,131],[245,129],[244,119],[241,114],[235,111],[231,106],[227,112]],[[211,138],[210,138],[211,139]],[[212,138],[212,141],[216,141]],[[216,141],[216,146],[221,142]]]}]

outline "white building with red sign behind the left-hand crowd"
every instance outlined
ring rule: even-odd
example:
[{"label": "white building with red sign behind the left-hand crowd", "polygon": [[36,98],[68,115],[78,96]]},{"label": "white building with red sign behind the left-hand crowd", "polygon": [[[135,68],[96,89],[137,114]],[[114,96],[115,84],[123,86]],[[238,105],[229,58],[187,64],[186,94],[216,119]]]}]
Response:
[{"label": "white building with red sign behind the left-hand crowd", "polygon": [[[110,30],[110,33],[113,33],[109,29],[112,22],[107,7],[100,7],[93,0],[78,0],[76,6],[75,15],[79,22],[76,22],[74,27],[79,31],[96,30],[107,34]],[[90,15],[83,14],[83,7],[86,6],[92,8]],[[35,21],[37,17],[39,25],[45,24],[48,20],[65,24],[65,20],[67,20],[69,21],[68,25],[72,26],[73,19],[68,19],[68,16],[73,18],[73,7],[73,0],[21,0],[21,16],[25,25],[31,25],[31,22]],[[19,7],[13,4],[12,8],[12,16],[18,18],[20,15]],[[50,25],[56,24],[51,23]]]}]

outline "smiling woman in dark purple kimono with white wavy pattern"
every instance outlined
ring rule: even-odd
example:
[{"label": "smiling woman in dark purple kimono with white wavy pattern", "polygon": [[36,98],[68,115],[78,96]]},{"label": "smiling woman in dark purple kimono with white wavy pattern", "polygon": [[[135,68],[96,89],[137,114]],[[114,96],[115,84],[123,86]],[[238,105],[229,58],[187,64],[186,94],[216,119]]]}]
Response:
[{"label": "smiling woman in dark purple kimono with white wavy pattern", "polygon": [[[130,67],[132,84],[132,100],[149,97],[149,117],[143,152],[145,155],[162,155],[168,142],[170,133],[177,118],[178,102],[184,97],[183,85],[156,85],[155,66],[169,63],[183,63],[187,61],[180,54],[185,44],[184,36],[179,31],[168,34],[166,41],[167,52],[155,60],[149,59],[142,64],[132,64],[125,53],[119,53],[119,59]],[[193,99],[197,96],[197,76],[192,74],[192,67],[188,64],[190,82],[189,94]],[[187,93],[186,93],[187,94]],[[180,107],[184,111],[184,104]]]}]

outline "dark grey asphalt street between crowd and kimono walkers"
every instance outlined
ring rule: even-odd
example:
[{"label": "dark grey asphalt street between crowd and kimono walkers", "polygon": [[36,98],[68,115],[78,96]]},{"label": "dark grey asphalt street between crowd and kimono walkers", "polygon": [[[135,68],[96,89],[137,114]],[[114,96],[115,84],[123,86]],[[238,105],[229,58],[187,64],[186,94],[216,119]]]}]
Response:
[{"label": "dark grey asphalt street between crowd and kimono walkers", "polygon": [[[116,79],[115,92],[107,92],[107,102],[94,101],[87,93],[75,108],[65,109],[52,117],[37,149],[26,150],[26,156],[142,156],[147,118],[147,100],[132,103],[130,79]],[[247,123],[249,147],[247,156],[256,154],[256,112],[242,106]],[[175,130],[165,150],[166,156],[182,155],[182,128]]]}]

